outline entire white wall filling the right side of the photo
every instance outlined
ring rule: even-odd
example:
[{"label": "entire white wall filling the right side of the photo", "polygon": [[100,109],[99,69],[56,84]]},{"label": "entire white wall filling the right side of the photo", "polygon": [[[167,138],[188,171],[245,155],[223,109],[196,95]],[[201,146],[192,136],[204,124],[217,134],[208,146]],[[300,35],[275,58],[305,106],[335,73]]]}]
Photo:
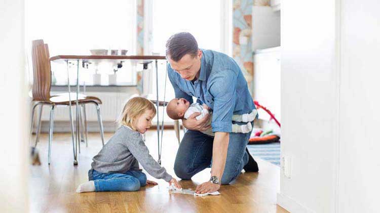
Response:
[{"label": "entire white wall filling the right side of the photo", "polygon": [[[286,1],[278,203],[292,212],[378,212],[380,3]],[[286,165],[285,165],[286,166]]]}]

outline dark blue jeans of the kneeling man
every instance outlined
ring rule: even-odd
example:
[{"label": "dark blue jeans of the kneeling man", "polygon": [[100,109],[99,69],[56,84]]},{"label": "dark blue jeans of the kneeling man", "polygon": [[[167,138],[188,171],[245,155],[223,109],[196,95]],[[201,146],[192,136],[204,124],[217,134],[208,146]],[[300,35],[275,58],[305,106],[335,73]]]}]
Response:
[{"label": "dark blue jeans of the kneeling man", "polygon": [[[241,173],[248,162],[245,148],[250,133],[230,133],[230,142],[225,161],[221,184],[229,184]],[[211,164],[214,138],[198,131],[188,130],[179,145],[174,163],[174,172],[178,178],[191,179]]]}]

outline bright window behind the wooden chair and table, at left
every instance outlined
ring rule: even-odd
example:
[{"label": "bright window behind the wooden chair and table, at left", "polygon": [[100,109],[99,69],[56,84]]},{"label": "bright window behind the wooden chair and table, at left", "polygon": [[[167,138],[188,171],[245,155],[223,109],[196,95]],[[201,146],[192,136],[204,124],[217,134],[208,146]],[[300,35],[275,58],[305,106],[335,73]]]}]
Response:
[{"label": "bright window behind the wooden chair and table, at left", "polygon": [[[32,76],[31,41],[44,39],[50,56],[89,55],[91,49],[126,49],[128,55],[136,53],[136,1],[122,0],[34,0],[25,1],[25,44],[28,47],[29,75]],[[129,62],[118,71],[118,83],[135,83]],[[82,66],[80,66],[82,67]],[[98,67],[102,84],[112,73],[112,64],[102,62]],[[56,84],[67,84],[66,65],[52,63]],[[92,83],[95,66],[81,70],[81,81]],[[74,83],[76,65],[69,69]],[[31,79],[31,78],[30,78]]]}]

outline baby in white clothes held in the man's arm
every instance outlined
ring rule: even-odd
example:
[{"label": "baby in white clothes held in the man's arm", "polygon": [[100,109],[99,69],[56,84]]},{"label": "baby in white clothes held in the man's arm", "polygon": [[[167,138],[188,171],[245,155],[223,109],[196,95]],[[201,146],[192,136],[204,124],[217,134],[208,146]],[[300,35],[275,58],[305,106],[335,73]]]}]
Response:
[{"label": "baby in white clothes held in the man's arm", "polygon": [[[209,113],[209,107],[206,104],[200,105],[199,103],[193,103],[190,104],[186,99],[184,98],[175,98],[172,99],[167,108],[166,113],[171,119],[178,120],[185,118],[187,119],[190,115],[192,115],[194,112],[200,112],[201,114],[196,117],[197,120],[202,119],[206,114]],[[232,120],[238,121],[238,122],[247,122],[247,124],[239,125],[239,124],[231,124],[232,125],[232,132],[233,133],[249,133],[252,131],[252,124],[251,121],[255,119],[257,115],[257,110],[252,110],[251,113],[246,113],[242,115],[233,115]],[[210,113],[210,116],[212,116],[212,113]],[[211,124],[212,118],[209,119],[209,124]],[[212,128],[202,131],[202,133],[214,136],[214,133],[212,132]]]}]

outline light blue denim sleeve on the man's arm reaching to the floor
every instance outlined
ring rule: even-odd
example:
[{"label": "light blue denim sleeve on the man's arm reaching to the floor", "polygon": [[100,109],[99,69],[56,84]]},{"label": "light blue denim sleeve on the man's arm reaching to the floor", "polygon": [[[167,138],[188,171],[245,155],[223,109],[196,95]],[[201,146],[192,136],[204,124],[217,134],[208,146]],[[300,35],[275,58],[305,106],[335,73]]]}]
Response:
[{"label": "light blue denim sleeve on the man's arm reaching to the floor", "polygon": [[212,132],[232,132],[232,115],[235,109],[236,73],[224,70],[214,76],[209,89],[214,97]]}]

